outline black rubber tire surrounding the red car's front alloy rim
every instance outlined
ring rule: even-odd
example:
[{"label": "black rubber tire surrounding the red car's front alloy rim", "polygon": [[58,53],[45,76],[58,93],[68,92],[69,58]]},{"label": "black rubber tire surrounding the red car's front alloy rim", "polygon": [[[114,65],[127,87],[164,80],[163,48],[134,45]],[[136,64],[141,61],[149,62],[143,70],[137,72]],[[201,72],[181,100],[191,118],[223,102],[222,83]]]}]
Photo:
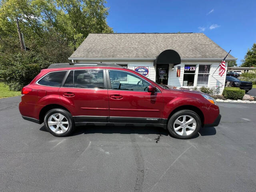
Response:
[{"label": "black rubber tire surrounding the red car's front alloy rim", "polygon": [[[174,121],[180,117],[180,116],[183,116],[183,115],[188,115],[188,116],[192,116],[194,118],[194,120],[196,120],[196,127],[194,129],[194,131],[187,135],[187,136],[181,136],[179,134],[177,134],[175,131],[174,131]],[[190,138],[193,138],[197,133],[198,131],[200,130],[201,128],[201,119],[200,117],[198,116],[198,114],[196,114],[196,112],[194,111],[191,111],[191,110],[180,110],[176,113],[174,113],[169,121],[168,121],[168,124],[167,124],[167,129],[168,131],[170,132],[170,135],[174,138],[178,138],[178,139],[190,139]]]}]

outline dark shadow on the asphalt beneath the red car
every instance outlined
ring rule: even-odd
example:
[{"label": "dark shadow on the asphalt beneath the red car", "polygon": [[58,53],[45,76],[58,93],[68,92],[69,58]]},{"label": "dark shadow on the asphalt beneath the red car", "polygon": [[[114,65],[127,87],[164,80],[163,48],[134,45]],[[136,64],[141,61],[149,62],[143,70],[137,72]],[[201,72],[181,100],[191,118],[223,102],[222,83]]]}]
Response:
[{"label": "dark shadow on the asphalt beneath the red car", "polygon": [[[44,126],[40,128],[41,131],[48,132]],[[136,126],[77,126],[74,132],[70,136],[76,136],[80,134],[157,134],[157,135],[170,135],[168,130],[161,127],[136,127]],[[199,131],[201,136],[211,136],[216,134],[216,129],[214,127],[201,128]],[[193,138],[197,138],[199,134],[196,134]]]}]

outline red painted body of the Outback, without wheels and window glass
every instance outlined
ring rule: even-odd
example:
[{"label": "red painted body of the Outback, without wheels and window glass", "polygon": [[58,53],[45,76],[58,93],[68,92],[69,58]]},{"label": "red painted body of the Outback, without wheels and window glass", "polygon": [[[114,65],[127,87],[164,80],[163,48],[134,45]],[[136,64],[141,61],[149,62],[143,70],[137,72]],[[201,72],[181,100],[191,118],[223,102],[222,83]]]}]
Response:
[{"label": "red painted body of the Outback, without wheels and window glass", "polygon": [[[104,88],[52,87],[36,83],[50,72],[89,69],[104,71]],[[110,88],[109,84],[112,82],[107,74],[108,70],[121,70],[138,76],[150,84],[148,91]],[[149,92],[151,90],[153,91]],[[220,121],[218,106],[204,98],[202,93],[167,89],[133,70],[112,66],[44,69],[24,87],[21,98],[19,110],[23,118],[37,123],[42,123],[47,110],[52,108],[63,108],[70,112],[76,125],[88,122],[134,122],[166,126],[169,118],[178,109],[196,112],[202,120],[202,126],[217,126]]]}]

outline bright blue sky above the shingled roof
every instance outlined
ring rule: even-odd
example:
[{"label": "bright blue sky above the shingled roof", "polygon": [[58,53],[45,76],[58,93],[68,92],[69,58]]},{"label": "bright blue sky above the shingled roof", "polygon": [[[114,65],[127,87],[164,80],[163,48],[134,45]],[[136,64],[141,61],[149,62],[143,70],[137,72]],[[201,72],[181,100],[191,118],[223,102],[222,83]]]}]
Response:
[{"label": "bright blue sky above the shingled roof", "polygon": [[107,0],[106,7],[114,32],[204,33],[238,65],[256,42],[256,0]]}]

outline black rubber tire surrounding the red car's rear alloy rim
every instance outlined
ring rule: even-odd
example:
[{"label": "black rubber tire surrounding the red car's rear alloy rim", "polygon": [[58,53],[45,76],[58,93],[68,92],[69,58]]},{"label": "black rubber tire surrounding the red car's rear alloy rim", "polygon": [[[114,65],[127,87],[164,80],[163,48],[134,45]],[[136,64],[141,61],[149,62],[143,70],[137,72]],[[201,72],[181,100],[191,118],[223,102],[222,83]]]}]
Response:
[{"label": "black rubber tire surrounding the red car's rear alloy rim", "polygon": [[[51,128],[48,126],[48,118],[52,115],[52,114],[62,114],[63,116],[65,116],[66,120],[68,121],[68,129],[64,132],[64,133],[56,133],[53,130],[51,130]],[[44,126],[46,127],[46,129],[53,134],[56,137],[65,137],[65,136],[69,136],[75,129],[75,124],[74,124],[74,120],[72,115],[70,114],[70,112],[64,110],[64,109],[51,109],[49,110],[45,116],[44,116]]]}]

